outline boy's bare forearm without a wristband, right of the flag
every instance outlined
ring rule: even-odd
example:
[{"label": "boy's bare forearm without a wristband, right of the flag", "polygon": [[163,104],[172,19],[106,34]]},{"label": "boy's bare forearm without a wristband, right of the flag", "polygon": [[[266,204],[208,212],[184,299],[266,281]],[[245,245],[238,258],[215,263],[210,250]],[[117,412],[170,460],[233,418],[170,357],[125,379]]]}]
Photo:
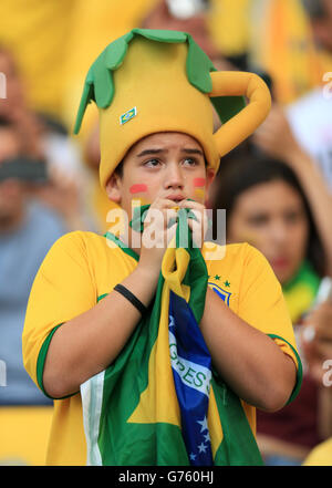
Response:
[{"label": "boy's bare forearm without a wristband, right of the flag", "polygon": [[287,403],[295,384],[292,359],[209,288],[200,329],[217,371],[240,398],[269,412]]}]

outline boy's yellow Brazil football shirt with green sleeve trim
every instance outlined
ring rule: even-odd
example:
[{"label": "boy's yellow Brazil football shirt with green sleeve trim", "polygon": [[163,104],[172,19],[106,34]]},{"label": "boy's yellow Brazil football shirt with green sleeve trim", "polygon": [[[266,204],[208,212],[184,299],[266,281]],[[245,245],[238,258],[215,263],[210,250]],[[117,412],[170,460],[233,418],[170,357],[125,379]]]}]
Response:
[{"label": "boy's yellow Brazil football shirt with green sleeve trim", "polygon": [[[231,245],[220,248],[222,259],[208,255],[209,287],[241,319],[267,334],[298,365],[292,324],[281,287],[266,258],[253,247]],[[43,388],[42,374],[54,328],[85,312],[110,293],[137,266],[131,249],[110,245],[105,237],[75,231],[60,238],[44,259],[32,287],[23,330],[23,361],[33,381]],[[65,326],[65,325],[64,325]],[[290,343],[291,346],[288,344]],[[255,407],[243,407],[256,432]],[[80,393],[54,401],[46,464],[84,465],[86,445]]]}]

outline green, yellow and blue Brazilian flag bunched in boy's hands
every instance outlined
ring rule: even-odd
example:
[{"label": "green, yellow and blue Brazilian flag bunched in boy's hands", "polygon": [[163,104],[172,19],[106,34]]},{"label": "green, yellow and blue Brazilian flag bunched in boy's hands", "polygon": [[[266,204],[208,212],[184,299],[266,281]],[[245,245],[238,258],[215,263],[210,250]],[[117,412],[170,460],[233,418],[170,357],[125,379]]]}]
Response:
[{"label": "green, yellow and blue Brazilian flag bunched in boy's hands", "polygon": [[[138,209],[141,230],[147,207]],[[214,370],[198,326],[208,273],[187,218],[195,216],[180,209],[148,313],[110,367],[81,386],[90,465],[262,464],[241,402]]]}]

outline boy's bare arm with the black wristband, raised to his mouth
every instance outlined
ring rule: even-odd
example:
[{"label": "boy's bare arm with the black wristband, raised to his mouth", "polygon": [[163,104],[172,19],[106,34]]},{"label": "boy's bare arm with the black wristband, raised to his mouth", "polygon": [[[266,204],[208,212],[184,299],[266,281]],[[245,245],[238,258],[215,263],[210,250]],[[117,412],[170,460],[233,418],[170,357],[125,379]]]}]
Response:
[{"label": "boy's bare arm with the black wristband, raised to his mouth", "polygon": [[[174,201],[166,199],[157,199],[151,206],[164,212],[160,232],[165,239],[168,219],[175,215],[166,209],[173,206]],[[165,249],[142,245],[137,268],[122,281],[146,307],[155,294]],[[112,291],[96,305],[66,321],[55,331],[48,350],[43,371],[45,392],[55,398],[77,392],[82,383],[116,359],[139,320],[138,310],[122,294]]]}]

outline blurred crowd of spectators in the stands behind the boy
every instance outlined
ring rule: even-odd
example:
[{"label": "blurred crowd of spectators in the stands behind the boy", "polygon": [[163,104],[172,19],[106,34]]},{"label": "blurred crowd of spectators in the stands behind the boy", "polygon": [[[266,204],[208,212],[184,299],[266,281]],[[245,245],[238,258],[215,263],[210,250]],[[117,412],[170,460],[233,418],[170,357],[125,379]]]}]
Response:
[{"label": "blurred crowd of spectators in the stands behind the boy", "polygon": [[84,76],[131,29],[174,29],[218,70],[256,72],[270,87],[270,115],[222,158],[207,207],[226,209],[228,242],[247,241],[270,262],[302,360],[298,398],[258,412],[264,461],[331,466],[332,0],[28,3],[3,0],[0,18],[0,437],[3,408],[51,408],[22,364],[34,276],[63,233],[104,233],[115,205],[98,185],[93,106],[72,135]]}]

